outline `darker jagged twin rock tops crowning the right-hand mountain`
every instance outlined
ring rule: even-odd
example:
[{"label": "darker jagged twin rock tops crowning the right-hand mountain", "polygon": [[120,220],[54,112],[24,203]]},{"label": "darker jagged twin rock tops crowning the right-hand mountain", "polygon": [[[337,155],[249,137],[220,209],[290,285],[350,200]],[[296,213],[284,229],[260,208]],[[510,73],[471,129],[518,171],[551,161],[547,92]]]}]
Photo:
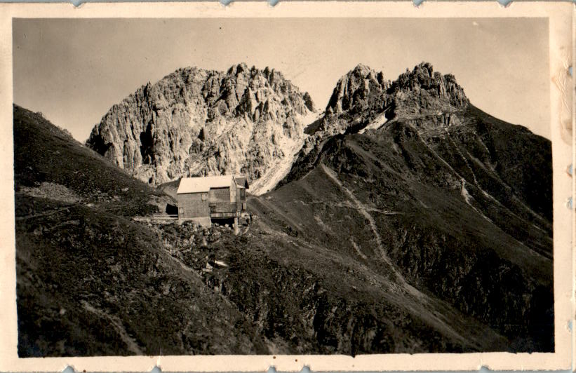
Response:
[{"label": "darker jagged twin rock tops crowning the right-hand mountain", "polygon": [[313,136],[307,139],[303,151],[307,154],[328,136],[377,128],[392,118],[434,115],[449,124],[454,120],[452,114],[468,105],[455,77],[434,72],[428,62],[412,71],[406,69],[395,81],[384,79],[383,72],[358,65],[337,81],[325,115],[307,130]]}]

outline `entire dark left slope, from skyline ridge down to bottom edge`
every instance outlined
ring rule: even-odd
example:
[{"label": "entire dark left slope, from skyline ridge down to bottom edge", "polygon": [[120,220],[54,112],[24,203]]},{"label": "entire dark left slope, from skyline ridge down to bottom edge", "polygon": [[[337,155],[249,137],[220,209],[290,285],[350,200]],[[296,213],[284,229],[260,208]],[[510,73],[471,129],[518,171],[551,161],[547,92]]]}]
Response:
[{"label": "entire dark left slope, from skyline ridge down to bottom edge", "polygon": [[[267,351],[234,306],[127,219],[156,210],[152,189],[20,107],[14,136],[21,356]],[[82,201],[20,191],[41,182]]]}]

